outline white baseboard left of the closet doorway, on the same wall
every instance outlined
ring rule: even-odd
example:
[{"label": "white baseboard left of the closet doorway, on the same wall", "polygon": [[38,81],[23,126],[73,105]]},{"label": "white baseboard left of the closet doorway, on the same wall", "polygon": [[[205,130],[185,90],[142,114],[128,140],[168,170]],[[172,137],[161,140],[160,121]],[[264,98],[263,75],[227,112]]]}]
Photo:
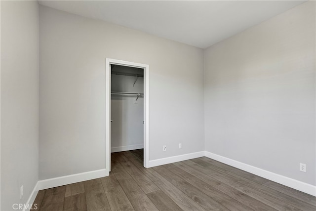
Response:
[{"label": "white baseboard left of the closet doorway, on the same wall", "polygon": [[109,171],[106,169],[87,171],[83,173],[76,173],[67,176],[60,176],[51,179],[44,179],[38,181],[37,190],[58,187],[62,185],[82,182],[85,180],[96,179],[104,176],[109,176]]}]

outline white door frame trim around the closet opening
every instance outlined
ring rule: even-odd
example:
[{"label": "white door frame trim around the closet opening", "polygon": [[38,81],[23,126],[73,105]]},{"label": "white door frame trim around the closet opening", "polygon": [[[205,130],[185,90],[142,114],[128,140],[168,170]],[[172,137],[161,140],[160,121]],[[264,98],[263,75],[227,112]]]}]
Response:
[{"label": "white door frame trim around the closet opening", "polygon": [[149,164],[149,65],[117,59],[106,59],[105,73],[105,169],[111,170],[111,65],[121,65],[144,69],[144,167]]}]

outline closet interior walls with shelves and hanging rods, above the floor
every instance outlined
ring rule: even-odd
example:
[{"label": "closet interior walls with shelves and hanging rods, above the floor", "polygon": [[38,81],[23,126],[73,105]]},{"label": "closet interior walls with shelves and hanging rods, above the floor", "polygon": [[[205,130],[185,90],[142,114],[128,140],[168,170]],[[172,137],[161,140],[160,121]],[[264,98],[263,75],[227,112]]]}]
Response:
[{"label": "closet interior walls with shelves and hanging rods, above the floor", "polygon": [[111,65],[111,152],[144,148],[144,69]]}]

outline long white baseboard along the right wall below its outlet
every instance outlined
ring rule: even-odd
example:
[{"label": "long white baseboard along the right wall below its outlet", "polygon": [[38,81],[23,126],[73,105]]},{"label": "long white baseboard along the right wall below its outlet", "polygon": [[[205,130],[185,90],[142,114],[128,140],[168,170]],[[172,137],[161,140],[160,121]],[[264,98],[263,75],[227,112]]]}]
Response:
[{"label": "long white baseboard along the right wall below its outlet", "polygon": [[301,182],[299,180],[296,179],[292,179],[277,173],[273,173],[271,171],[267,171],[264,169],[259,169],[257,167],[254,166],[250,166],[248,164],[244,164],[241,163],[239,161],[235,161],[233,159],[230,158],[226,158],[211,152],[207,152],[205,151],[205,157],[214,159],[216,161],[219,161],[221,163],[230,165],[232,167],[235,167],[237,169],[242,169],[245,170],[247,172],[253,173],[255,175],[261,176],[263,178],[269,179],[271,181],[280,183],[282,185],[294,188],[296,190],[302,191],[304,193],[310,194],[312,196],[316,196],[316,186],[305,183],[305,182]]}]

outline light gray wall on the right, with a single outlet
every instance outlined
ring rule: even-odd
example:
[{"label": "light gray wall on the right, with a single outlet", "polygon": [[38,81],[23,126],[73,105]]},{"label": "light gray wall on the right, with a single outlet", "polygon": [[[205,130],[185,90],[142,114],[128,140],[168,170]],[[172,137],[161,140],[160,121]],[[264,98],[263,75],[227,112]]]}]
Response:
[{"label": "light gray wall on the right, with a single outlet", "polygon": [[315,26],[308,1],[205,50],[206,151],[316,184]]}]

